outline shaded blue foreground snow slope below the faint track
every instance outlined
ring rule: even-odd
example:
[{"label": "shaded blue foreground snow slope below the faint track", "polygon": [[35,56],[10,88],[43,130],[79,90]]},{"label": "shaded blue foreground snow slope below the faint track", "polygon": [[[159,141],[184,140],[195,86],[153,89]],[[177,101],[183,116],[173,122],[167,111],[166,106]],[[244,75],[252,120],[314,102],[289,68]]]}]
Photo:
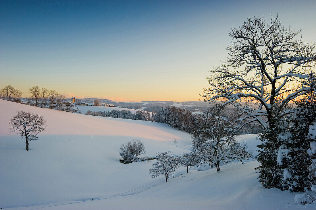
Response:
[{"label": "shaded blue foreground snow slope below the faint track", "polygon": [[[228,164],[222,171],[191,170],[167,183],[93,201],[30,207],[35,209],[301,209],[295,193],[263,189],[254,167],[257,161]],[[144,187],[144,188],[145,188]],[[136,192],[136,194],[135,194]],[[92,198],[90,198],[91,200]],[[314,206],[304,208],[313,209]]]}]

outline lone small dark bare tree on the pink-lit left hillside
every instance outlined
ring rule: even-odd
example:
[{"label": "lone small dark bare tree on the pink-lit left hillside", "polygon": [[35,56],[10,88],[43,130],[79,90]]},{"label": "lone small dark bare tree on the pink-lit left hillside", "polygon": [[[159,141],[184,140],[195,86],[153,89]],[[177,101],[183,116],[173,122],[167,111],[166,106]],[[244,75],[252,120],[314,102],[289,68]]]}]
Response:
[{"label": "lone small dark bare tree on the pink-lit left hillside", "polygon": [[[26,150],[32,140],[37,140],[37,134],[45,130],[46,120],[43,116],[31,112],[18,111],[10,119],[11,132],[18,131],[22,138],[25,138]],[[11,133],[10,132],[10,133]]]}]

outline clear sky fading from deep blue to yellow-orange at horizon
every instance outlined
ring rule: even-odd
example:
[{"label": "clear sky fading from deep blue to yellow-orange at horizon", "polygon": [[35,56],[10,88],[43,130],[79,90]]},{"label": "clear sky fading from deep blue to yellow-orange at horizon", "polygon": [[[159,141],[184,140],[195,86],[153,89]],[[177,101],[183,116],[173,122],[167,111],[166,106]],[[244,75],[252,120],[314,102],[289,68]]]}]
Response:
[{"label": "clear sky fading from deep blue to yellow-orange at horizon", "polygon": [[0,1],[0,88],[76,98],[198,100],[248,16],[316,39],[316,1]]}]

